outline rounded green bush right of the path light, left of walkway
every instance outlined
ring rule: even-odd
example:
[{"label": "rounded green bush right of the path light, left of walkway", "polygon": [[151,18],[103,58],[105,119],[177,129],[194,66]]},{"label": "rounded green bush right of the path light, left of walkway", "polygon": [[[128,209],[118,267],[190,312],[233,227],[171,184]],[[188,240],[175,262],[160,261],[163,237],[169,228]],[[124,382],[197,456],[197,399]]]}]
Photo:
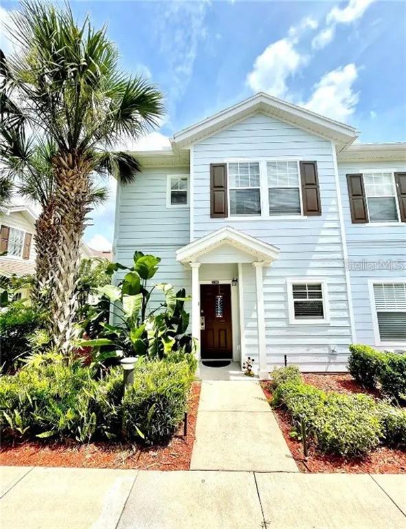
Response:
[{"label": "rounded green bush right of the path light, left of walkway", "polygon": [[195,377],[195,361],[176,360],[138,360],[135,382],[125,391],[122,402],[123,426],[129,439],[142,438],[147,444],[163,442],[180,426]]}]

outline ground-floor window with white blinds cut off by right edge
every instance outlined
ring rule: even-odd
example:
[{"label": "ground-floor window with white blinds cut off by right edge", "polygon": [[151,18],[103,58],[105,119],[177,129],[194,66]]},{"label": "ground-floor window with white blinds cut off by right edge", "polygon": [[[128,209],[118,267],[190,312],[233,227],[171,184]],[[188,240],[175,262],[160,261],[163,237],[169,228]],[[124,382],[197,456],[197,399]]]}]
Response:
[{"label": "ground-floor window with white blinds cut off by right edge", "polygon": [[381,342],[406,342],[406,283],[374,283]]}]

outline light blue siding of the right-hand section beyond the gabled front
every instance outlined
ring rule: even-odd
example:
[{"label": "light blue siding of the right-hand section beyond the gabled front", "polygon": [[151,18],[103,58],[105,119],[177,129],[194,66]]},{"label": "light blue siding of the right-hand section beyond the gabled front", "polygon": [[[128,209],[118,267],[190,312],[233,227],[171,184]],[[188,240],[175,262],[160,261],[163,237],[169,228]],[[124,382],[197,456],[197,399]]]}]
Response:
[{"label": "light blue siding of the right-hand section beyond the gabled front", "polygon": [[[339,163],[356,340],[376,346],[368,280],[381,278],[387,282],[398,279],[406,281],[406,225],[401,222],[398,225],[380,226],[352,224],[346,175],[367,172],[368,169],[405,172],[406,163],[394,161]],[[385,349],[396,349],[396,347]]]}]

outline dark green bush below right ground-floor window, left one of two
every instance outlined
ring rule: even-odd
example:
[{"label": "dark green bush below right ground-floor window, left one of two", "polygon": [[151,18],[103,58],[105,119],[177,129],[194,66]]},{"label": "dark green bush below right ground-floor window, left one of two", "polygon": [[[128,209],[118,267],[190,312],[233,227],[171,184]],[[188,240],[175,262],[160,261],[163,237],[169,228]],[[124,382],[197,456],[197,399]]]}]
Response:
[{"label": "dark green bush below right ground-floor window, left one of two", "polygon": [[351,344],[348,371],[366,388],[375,388],[385,364],[385,353],[369,345]]}]

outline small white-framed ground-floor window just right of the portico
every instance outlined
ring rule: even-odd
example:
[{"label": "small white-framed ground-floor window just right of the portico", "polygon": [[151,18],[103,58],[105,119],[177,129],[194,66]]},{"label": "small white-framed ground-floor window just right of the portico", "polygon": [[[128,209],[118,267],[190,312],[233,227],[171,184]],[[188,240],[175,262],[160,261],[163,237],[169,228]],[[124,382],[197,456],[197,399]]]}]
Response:
[{"label": "small white-framed ground-floor window just right of the portico", "polygon": [[290,323],[326,323],[330,320],[327,289],[319,281],[288,280]]}]

